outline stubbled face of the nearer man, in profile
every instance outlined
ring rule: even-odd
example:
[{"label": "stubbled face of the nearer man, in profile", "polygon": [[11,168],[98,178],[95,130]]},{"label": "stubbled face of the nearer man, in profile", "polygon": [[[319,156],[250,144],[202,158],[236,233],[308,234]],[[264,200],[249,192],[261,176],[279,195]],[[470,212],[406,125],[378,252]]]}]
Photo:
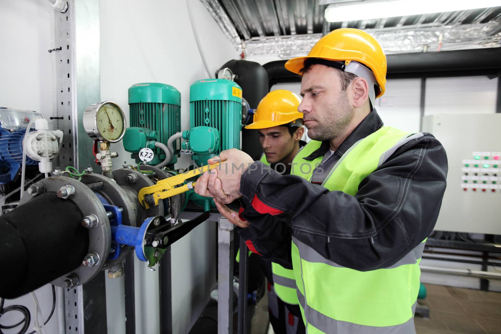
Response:
[{"label": "stubbled face of the nearer man, in profile", "polygon": [[354,108],[347,91],[341,90],[336,69],[313,65],[301,79],[299,112],[303,113],[308,137],[325,141],[342,136],[353,119]]}]

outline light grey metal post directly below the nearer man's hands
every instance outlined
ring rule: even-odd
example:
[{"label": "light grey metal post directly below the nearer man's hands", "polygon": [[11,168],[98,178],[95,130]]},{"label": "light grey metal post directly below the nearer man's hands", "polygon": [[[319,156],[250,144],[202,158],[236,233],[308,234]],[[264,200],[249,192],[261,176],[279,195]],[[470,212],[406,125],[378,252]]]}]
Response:
[{"label": "light grey metal post directly below the nearer man's hands", "polygon": [[233,332],[233,224],[219,218],[217,230],[217,332]]}]

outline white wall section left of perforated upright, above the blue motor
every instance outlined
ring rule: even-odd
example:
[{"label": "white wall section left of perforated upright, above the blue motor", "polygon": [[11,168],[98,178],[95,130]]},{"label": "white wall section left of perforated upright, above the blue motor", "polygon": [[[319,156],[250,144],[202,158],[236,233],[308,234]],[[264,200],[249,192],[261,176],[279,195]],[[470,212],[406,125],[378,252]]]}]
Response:
[{"label": "white wall section left of perforated upright, above the blue motor", "polygon": [[50,5],[0,1],[0,107],[52,114]]}]

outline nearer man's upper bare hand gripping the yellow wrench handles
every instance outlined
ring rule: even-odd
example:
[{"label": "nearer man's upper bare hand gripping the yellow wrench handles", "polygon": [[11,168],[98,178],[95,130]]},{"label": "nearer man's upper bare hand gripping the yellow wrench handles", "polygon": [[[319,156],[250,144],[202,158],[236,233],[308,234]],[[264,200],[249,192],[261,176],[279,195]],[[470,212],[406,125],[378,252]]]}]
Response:
[{"label": "nearer man's upper bare hand gripping the yellow wrench handles", "polygon": [[221,162],[217,168],[203,173],[196,181],[195,192],[221,203],[231,203],[241,197],[240,178],[254,160],[242,151],[230,149],[208,161],[209,164],[217,162]]}]

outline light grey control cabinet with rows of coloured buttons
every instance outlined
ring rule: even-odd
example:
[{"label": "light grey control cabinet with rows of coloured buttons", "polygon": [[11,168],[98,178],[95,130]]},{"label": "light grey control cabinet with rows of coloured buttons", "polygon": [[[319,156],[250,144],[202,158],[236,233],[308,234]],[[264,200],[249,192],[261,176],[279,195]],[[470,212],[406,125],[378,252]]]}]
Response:
[{"label": "light grey control cabinet with rows of coloured buttons", "polygon": [[449,167],[435,230],[501,234],[501,113],[430,115],[422,124]]}]

